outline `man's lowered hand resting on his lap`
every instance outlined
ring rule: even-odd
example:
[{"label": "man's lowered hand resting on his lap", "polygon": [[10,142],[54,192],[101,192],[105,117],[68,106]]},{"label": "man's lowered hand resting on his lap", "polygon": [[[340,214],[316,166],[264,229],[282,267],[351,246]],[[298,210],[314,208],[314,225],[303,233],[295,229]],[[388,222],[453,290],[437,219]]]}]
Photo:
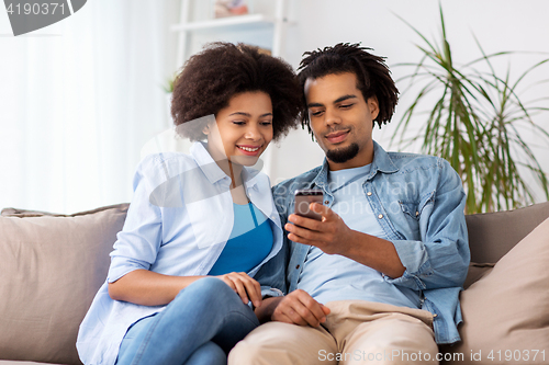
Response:
[{"label": "man's lowered hand resting on his lap", "polygon": [[296,289],[282,297],[272,311],[271,320],[299,324],[318,327],[326,321],[329,308],[323,306],[306,292]]}]

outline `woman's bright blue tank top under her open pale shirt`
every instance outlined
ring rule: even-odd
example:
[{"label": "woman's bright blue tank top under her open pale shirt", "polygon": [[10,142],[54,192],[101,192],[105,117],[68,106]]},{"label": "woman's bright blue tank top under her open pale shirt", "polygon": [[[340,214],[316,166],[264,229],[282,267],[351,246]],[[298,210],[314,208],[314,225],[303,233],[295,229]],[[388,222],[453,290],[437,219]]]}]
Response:
[{"label": "woman's bright blue tank top under her open pale shirt", "polygon": [[233,204],[235,221],[231,236],[209,275],[249,272],[272,249],[272,229],[267,217],[254,204]]}]

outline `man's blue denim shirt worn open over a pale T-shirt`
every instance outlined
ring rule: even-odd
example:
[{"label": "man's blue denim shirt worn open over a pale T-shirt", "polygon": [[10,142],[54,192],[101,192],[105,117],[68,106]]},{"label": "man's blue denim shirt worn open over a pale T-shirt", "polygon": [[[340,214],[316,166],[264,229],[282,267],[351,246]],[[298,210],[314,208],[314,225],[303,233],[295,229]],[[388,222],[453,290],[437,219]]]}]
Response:
[{"label": "man's blue denim shirt worn open over a pale T-shirt", "polygon": [[[362,182],[362,190],[405,266],[401,277],[383,277],[394,285],[421,290],[421,308],[434,315],[437,343],[457,342],[460,340],[457,326],[462,321],[459,293],[470,261],[461,180],[444,159],[385,152],[373,144],[371,171]],[[325,160],[323,166],[272,189],[282,227],[294,210],[296,189],[322,189],[324,204],[332,206],[334,196],[327,175]],[[284,243],[289,248],[288,289],[292,292],[309,246],[289,241],[288,237]]]}]

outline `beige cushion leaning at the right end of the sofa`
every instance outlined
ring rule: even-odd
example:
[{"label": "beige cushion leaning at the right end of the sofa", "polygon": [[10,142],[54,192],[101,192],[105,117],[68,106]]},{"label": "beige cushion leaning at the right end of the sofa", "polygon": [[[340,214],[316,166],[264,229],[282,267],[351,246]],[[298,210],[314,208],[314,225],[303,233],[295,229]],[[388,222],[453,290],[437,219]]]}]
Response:
[{"label": "beige cushion leaning at the right end of the sofa", "polygon": [[474,364],[548,364],[548,264],[549,218],[461,293],[462,342],[450,352],[462,353],[466,363],[480,352]]}]

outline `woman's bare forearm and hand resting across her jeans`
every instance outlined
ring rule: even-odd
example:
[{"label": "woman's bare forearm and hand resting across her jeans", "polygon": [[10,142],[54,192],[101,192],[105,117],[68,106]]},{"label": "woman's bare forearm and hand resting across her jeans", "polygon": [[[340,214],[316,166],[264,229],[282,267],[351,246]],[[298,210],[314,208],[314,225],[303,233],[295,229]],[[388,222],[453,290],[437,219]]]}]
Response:
[{"label": "woman's bare forearm and hand resting across her jeans", "polygon": [[[148,270],[134,270],[115,282],[109,283],[109,295],[114,300],[130,301],[142,306],[164,306],[179,292],[204,276],[170,276]],[[244,304],[249,300],[261,306],[261,287],[246,273],[219,275],[238,294]]]}]

